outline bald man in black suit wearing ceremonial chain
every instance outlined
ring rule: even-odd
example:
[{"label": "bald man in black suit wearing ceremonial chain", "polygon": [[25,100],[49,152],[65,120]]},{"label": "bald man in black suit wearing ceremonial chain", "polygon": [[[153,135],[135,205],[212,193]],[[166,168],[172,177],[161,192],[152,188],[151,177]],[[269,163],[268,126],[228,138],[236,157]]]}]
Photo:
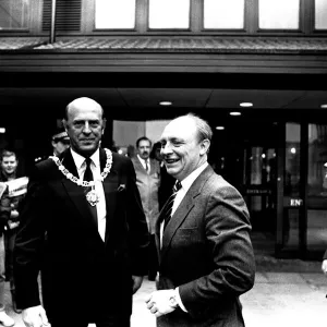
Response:
[{"label": "bald man in black suit wearing ceremonial chain", "polygon": [[106,119],[95,100],[70,102],[63,125],[70,148],[29,175],[14,250],[17,306],[26,326],[129,327],[149,239],[133,164],[100,147]]}]

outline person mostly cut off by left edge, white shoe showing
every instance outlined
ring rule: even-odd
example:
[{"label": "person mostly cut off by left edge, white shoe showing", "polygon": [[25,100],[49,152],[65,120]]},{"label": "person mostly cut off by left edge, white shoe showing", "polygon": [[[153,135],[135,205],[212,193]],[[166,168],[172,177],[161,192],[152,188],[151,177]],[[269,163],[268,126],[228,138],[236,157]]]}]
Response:
[{"label": "person mostly cut off by left edge, white shoe showing", "polygon": [[4,327],[14,326],[15,322],[5,313],[4,287],[5,287],[5,251],[4,251],[4,230],[8,228],[10,218],[10,198],[8,185],[0,182],[0,324]]}]

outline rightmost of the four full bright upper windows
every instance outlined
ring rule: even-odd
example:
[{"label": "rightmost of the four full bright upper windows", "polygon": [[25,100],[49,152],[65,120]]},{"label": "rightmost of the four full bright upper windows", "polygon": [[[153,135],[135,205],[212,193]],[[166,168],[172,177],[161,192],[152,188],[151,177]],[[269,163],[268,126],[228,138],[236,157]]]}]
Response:
[{"label": "rightmost of the four full bright upper windows", "polygon": [[259,0],[261,29],[299,29],[300,0]]}]

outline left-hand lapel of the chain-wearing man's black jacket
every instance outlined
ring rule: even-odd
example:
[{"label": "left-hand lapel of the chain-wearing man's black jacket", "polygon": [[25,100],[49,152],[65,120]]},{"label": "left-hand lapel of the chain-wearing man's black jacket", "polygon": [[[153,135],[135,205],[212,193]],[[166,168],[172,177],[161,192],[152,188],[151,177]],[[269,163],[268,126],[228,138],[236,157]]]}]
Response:
[{"label": "left-hand lapel of the chain-wearing man's black jacket", "polygon": [[[65,152],[62,165],[75,177],[78,177],[78,172],[72,157],[70,150]],[[90,217],[92,213],[89,210],[89,205],[85,198],[84,187],[76,185],[72,181],[66,178],[62,179],[62,184],[65,187],[69,197],[74,203],[76,209],[78,210],[80,215],[84,218],[85,221],[92,221],[92,226],[97,229],[94,219]]]}]

